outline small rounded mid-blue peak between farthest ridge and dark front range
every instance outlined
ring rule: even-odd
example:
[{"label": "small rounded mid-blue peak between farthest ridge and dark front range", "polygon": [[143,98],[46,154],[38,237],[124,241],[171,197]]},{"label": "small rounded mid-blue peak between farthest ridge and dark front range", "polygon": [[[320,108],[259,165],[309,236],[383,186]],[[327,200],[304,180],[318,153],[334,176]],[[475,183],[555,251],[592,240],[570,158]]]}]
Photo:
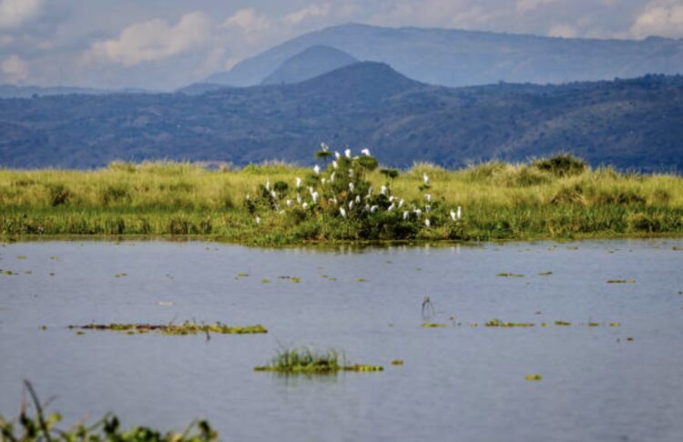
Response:
[{"label": "small rounded mid-blue peak between farthest ridge and dark front range", "polygon": [[261,85],[281,85],[302,81],[325,74],[358,59],[329,45],[311,45],[287,59],[275,72],[268,75]]}]

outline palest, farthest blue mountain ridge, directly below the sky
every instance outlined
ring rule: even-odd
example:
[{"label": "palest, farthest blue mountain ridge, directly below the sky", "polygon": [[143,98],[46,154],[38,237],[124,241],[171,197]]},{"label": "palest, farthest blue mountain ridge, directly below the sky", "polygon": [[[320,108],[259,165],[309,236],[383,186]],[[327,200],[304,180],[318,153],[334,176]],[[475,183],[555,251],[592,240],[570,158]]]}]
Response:
[{"label": "palest, farthest blue mountain ridge, directly below the sky", "polygon": [[683,72],[683,40],[596,40],[456,29],[340,25],[243,60],[207,83],[259,85],[292,56],[327,45],[433,85],[559,84]]}]

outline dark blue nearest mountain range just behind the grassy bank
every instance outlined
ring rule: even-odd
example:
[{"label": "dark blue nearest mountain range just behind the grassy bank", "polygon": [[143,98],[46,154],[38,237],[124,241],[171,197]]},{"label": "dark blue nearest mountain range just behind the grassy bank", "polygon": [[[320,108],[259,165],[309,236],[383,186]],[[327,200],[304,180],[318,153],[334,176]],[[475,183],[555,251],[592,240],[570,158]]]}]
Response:
[{"label": "dark blue nearest mountain range just behind the grassy bank", "polygon": [[0,100],[0,165],[271,159],[312,164],[325,141],[390,166],[524,161],[560,150],[592,165],[683,170],[683,77],[568,85],[425,85],[357,63],[294,85],[203,95]]}]

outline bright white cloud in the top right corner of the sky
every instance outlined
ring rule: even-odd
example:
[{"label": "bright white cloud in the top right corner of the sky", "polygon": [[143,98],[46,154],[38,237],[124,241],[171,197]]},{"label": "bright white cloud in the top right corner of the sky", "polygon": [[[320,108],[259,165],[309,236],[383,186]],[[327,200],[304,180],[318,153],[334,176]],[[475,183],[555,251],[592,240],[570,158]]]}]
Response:
[{"label": "bright white cloud in the top right corner of the sky", "polygon": [[637,16],[630,28],[631,35],[683,37],[683,3],[680,1],[652,1]]}]

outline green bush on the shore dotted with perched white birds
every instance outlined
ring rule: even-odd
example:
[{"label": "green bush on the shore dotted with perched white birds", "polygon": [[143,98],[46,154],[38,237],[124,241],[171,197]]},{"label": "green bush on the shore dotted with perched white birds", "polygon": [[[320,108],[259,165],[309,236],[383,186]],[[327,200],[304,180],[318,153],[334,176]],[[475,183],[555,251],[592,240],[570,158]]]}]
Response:
[{"label": "green bush on the shore dotted with perched white birds", "polygon": [[[326,160],[329,147],[322,146],[316,157]],[[273,192],[269,179],[256,197],[245,198],[245,206],[255,219],[270,216],[286,226],[310,225],[321,239],[464,239],[462,206],[443,206],[426,173],[419,198],[394,195],[398,171],[392,169],[383,174],[387,180],[376,192],[367,176],[378,162],[367,148],[361,154],[352,156],[349,148],[344,155],[335,152],[330,165],[314,166],[308,176],[296,178],[291,190],[283,183]]]}]

